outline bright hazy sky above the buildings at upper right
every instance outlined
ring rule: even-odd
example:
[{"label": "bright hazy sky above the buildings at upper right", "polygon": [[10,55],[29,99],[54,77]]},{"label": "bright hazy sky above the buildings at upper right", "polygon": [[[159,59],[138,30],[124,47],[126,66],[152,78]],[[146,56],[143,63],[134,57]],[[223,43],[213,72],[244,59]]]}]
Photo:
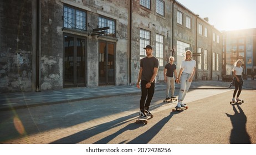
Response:
[{"label": "bright hazy sky above the buildings at upper right", "polygon": [[218,30],[256,28],[255,0],[177,0]]}]

